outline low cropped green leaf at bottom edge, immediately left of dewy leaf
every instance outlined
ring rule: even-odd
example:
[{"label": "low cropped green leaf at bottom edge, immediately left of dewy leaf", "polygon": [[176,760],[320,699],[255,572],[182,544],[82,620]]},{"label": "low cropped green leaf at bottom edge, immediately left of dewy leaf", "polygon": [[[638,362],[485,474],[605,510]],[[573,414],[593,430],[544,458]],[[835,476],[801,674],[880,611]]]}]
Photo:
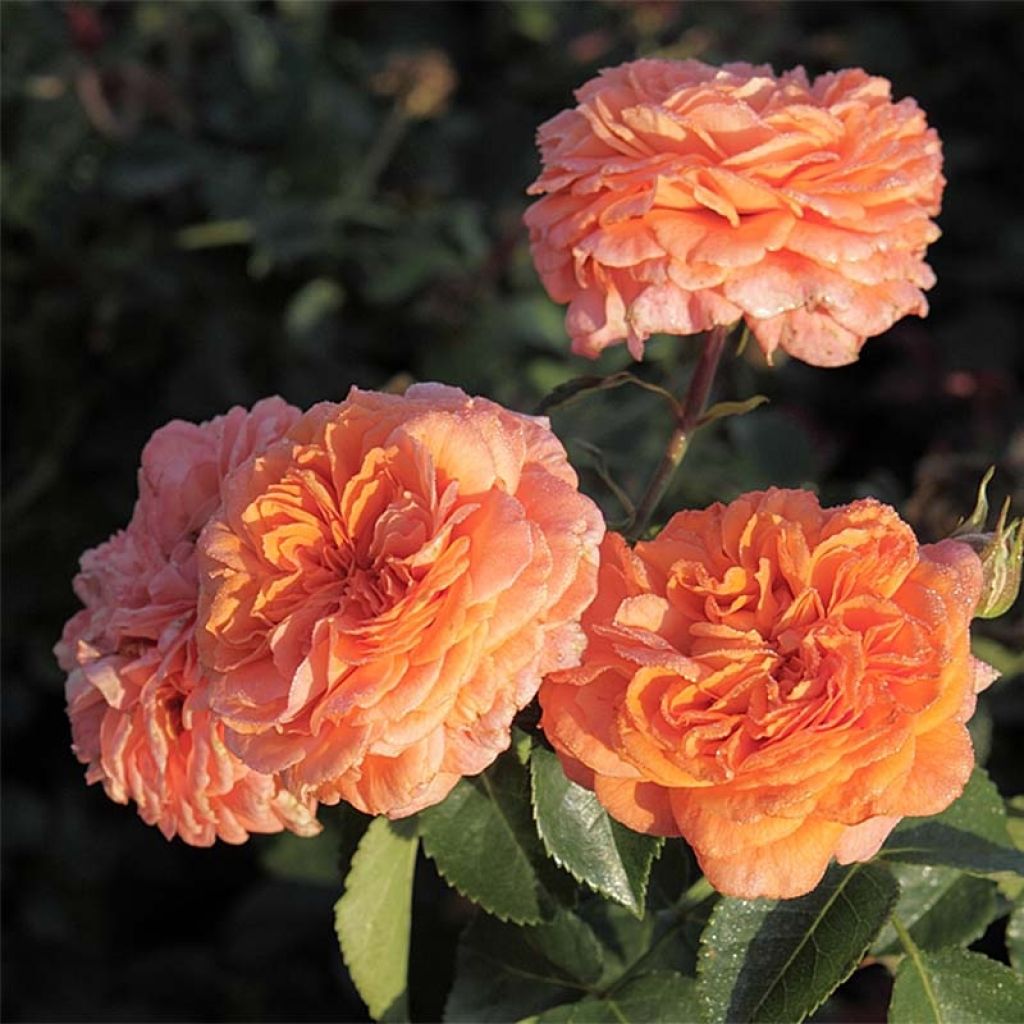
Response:
[{"label": "low cropped green leaf at bottom edge, immediately left of dewy leaf", "polygon": [[700,1016],[696,982],[674,971],[641,975],[601,998],[581,999],[531,1018],[537,1024],[656,1024]]}]

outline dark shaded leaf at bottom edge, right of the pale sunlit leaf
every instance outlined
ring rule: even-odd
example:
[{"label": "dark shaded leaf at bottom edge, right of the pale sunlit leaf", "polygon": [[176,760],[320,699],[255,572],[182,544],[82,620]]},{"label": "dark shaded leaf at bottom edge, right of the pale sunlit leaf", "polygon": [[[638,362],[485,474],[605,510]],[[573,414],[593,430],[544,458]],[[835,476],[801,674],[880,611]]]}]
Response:
[{"label": "dark shaded leaf at bottom edge, right of the pale sunlit leaf", "polygon": [[524,928],[479,914],[463,932],[445,1021],[508,1021],[588,994],[601,947],[574,913]]}]

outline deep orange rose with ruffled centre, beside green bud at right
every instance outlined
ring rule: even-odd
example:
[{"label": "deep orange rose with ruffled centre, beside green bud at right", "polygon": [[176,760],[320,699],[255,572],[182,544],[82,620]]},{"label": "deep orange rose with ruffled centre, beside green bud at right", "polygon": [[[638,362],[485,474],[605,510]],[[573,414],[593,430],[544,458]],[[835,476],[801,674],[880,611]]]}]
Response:
[{"label": "deep orange rose with ruffled centre, beside green bud at right", "polygon": [[567,774],[638,831],[684,836],[732,896],[809,892],[961,793],[980,563],[872,500],[768,490],[609,534],[579,669],[541,687]]}]

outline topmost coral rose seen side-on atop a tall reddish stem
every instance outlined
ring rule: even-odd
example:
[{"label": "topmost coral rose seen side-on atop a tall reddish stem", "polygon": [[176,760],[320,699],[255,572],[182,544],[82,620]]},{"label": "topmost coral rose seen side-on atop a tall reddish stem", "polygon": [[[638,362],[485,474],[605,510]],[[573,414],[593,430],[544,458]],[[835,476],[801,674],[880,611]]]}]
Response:
[{"label": "topmost coral rose seen side-on atop a tall reddish stem", "polygon": [[525,219],[577,352],[743,318],[769,358],[831,367],[927,313],[941,146],[886,79],[635,60],[575,95]]}]

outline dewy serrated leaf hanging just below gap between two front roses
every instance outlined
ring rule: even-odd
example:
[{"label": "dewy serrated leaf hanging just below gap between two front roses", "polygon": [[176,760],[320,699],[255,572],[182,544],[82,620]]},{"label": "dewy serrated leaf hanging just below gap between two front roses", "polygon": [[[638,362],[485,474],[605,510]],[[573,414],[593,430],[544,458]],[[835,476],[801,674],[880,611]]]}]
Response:
[{"label": "dewy serrated leaf hanging just below gap between two front roses", "polygon": [[572,782],[543,746],[530,759],[534,817],[545,849],[578,881],[643,915],[660,841],[608,816],[590,790]]}]

